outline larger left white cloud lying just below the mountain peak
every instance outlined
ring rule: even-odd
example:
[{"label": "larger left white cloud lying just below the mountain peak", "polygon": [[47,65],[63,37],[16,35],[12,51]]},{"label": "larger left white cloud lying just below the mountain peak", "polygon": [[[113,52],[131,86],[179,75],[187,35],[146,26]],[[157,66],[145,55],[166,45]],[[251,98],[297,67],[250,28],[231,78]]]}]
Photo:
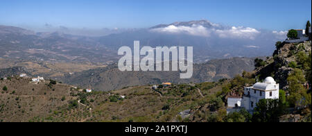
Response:
[{"label": "larger left white cloud lying just below the mountain peak", "polygon": [[189,35],[196,35],[196,36],[210,36],[210,32],[204,26],[174,26],[170,25],[164,28],[154,28],[151,31],[159,32],[159,33],[186,33]]}]

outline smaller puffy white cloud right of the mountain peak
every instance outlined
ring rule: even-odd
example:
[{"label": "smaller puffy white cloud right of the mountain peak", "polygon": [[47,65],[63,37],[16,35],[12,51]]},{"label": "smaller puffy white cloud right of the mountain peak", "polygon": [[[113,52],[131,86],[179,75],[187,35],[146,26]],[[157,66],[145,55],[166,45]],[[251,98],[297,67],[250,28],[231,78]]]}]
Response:
[{"label": "smaller puffy white cloud right of the mountain peak", "polygon": [[216,30],[219,37],[229,37],[229,38],[243,38],[254,40],[256,36],[261,33],[255,28],[244,28],[243,26],[235,27],[232,26],[230,29]]}]

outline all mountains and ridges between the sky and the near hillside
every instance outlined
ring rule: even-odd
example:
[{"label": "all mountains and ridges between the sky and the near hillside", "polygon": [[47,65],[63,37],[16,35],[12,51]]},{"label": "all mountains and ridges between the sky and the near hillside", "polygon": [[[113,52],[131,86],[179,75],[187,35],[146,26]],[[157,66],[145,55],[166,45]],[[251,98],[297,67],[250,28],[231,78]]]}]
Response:
[{"label": "all mountains and ridges between the sky and the near hillside", "polygon": [[[0,26],[0,59],[2,62],[20,61],[0,71],[14,74],[29,71],[32,76],[81,87],[91,85],[103,91],[162,82],[212,82],[252,71],[252,57],[272,54],[276,38],[277,34],[270,31],[223,26],[207,20],[160,24],[101,37]],[[115,62],[121,56],[117,56],[116,50],[120,46],[132,47],[134,40],[139,40],[141,46],[193,46],[196,63],[193,77],[180,79],[179,71],[119,71]],[[17,65],[21,62],[22,65]],[[23,67],[23,71],[9,66]]]}]

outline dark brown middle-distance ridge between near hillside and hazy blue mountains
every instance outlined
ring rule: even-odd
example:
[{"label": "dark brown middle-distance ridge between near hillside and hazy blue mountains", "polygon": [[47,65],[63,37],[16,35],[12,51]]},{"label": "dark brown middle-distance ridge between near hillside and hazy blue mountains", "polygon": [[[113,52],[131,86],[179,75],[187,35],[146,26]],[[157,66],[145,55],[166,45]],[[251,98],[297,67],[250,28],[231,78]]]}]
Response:
[{"label": "dark brown middle-distance ridge between near hillside and hazy blue mountains", "polygon": [[210,60],[193,67],[193,77],[180,79],[180,71],[119,71],[115,65],[90,69],[67,75],[64,83],[109,91],[137,85],[153,85],[162,82],[202,83],[218,81],[221,78],[233,78],[243,71],[254,69],[254,58],[229,58]]}]

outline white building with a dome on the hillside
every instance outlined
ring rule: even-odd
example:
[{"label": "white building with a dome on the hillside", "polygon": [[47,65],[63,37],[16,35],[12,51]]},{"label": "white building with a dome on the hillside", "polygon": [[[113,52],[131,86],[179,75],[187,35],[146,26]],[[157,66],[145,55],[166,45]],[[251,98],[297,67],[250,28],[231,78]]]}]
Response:
[{"label": "white building with a dome on the hillside", "polygon": [[244,87],[243,96],[229,96],[227,112],[240,108],[252,111],[261,99],[279,99],[279,84],[272,77],[266,78],[264,83],[255,83],[252,87]]}]

